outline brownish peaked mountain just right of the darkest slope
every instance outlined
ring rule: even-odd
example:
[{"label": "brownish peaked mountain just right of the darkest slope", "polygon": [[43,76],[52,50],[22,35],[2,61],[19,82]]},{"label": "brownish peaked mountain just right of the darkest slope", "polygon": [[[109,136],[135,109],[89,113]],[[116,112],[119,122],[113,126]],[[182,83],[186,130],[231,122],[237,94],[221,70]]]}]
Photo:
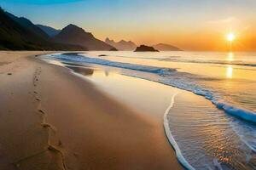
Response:
[{"label": "brownish peaked mountain just right of the darkest slope", "polygon": [[111,45],[96,39],[90,32],[72,24],[63,28],[54,38],[56,42],[81,45],[88,50],[113,50]]}]

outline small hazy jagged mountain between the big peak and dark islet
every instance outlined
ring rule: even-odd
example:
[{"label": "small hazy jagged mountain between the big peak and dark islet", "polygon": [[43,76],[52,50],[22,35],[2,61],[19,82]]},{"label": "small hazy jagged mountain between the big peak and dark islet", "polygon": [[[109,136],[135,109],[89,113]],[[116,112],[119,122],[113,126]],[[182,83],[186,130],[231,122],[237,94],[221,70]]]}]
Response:
[{"label": "small hazy jagged mountain between the big peak and dark islet", "polygon": [[113,40],[110,40],[107,37],[105,42],[113,46],[114,48],[117,48],[120,51],[134,51],[137,48],[137,45],[131,41],[126,42],[125,40],[121,40],[119,42],[114,42]]}]

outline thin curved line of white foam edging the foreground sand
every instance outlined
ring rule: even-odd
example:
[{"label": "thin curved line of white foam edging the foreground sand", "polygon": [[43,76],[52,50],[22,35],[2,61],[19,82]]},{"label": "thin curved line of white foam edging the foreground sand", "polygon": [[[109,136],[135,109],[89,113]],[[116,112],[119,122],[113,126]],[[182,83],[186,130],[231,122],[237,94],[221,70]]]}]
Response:
[{"label": "thin curved line of white foam edging the foreground sand", "polygon": [[176,152],[176,156],[177,156],[177,160],[181,162],[181,164],[183,165],[183,167],[185,167],[186,169],[189,170],[195,170],[194,167],[192,167],[188,161],[186,161],[186,159],[183,157],[181,150],[178,148],[178,145],[175,141],[175,139],[172,136],[172,133],[170,131],[170,126],[168,123],[168,119],[167,119],[167,115],[169,113],[169,111],[171,111],[172,106],[174,105],[174,99],[177,96],[178,93],[173,94],[172,95],[172,100],[171,100],[171,104],[167,107],[166,111],[165,111],[165,115],[164,115],[164,129],[165,129],[165,133],[166,136],[170,142],[170,144],[172,144],[172,147],[174,148],[175,152]]}]

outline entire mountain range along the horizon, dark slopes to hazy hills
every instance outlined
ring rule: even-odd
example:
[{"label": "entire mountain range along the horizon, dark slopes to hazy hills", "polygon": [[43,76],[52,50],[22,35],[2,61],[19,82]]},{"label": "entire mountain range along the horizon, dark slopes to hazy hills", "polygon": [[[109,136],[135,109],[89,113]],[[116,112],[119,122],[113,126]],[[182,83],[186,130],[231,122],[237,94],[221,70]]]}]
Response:
[{"label": "entire mountain range along the horizon, dark slopes to hazy hills", "polygon": [[135,50],[180,51],[170,44],[159,43],[153,47],[140,46],[131,41],[105,42],[94,37],[79,26],[68,25],[62,30],[43,25],[3,11],[0,7],[0,49],[25,50]]}]

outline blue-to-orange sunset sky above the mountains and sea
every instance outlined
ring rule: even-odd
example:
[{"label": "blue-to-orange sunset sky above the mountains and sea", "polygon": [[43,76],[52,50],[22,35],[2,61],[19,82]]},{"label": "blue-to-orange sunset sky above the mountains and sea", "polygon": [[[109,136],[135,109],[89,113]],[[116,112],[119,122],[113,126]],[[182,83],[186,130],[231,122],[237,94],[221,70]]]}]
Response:
[{"label": "blue-to-orange sunset sky above the mountains and sea", "polygon": [[185,50],[256,50],[255,0],[0,0],[0,6],[35,24],[75,24],[95,37]]}]

